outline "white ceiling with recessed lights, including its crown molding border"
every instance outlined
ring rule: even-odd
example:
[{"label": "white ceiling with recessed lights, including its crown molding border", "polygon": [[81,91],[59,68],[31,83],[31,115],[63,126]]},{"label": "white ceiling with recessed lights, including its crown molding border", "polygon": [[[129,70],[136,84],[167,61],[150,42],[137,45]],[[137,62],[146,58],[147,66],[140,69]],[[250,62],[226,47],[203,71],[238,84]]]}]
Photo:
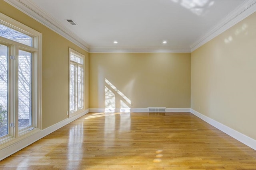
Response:
[{"label": "white ceiling with recessed lights, including its crown molding border", "polygon": [[255,0],[6,2],[89,52],[191,52],[254,12],[256,6]]}]

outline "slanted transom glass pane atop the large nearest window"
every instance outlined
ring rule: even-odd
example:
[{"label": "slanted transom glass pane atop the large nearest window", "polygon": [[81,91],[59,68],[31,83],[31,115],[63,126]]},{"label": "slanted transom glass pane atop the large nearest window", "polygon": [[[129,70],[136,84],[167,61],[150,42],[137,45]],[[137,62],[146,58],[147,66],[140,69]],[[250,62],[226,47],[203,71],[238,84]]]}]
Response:
[{"label": "slanted transom glass pane atop the large nearest window", "polygon": [[0,36],[32,47],[32,37],[0,24]]}]

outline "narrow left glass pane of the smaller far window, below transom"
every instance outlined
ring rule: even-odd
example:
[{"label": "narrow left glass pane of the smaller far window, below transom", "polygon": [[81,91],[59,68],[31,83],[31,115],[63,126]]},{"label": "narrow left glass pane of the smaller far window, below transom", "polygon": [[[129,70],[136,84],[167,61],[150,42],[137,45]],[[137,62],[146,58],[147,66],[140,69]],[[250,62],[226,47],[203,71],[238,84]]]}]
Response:
[{"label": "narrow left glass pane of the smaller far window, below transom", "polygon": [[70,112],[75,110],[75,65],[70,64]]}]

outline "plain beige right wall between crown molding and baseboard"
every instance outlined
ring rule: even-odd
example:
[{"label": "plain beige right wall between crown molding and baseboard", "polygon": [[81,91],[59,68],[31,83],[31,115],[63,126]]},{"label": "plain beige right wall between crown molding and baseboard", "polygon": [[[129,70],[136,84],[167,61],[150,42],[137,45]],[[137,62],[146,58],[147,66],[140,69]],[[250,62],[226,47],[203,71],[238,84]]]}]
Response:
[{"label": "plain beige right wall between crown molding and baseboard", "polygon": [[256,13],[191,54],[191,108],[256,139]]}]

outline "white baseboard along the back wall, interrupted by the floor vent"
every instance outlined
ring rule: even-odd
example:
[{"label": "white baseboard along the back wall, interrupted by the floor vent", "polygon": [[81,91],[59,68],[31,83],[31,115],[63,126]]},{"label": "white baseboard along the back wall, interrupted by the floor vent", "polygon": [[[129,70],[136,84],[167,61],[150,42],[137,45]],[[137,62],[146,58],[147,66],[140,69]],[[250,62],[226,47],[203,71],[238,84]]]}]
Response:
[{"label": "white baseboard along the back wall, interrupted by the floor vent", "polygon": [[[148,112],[148,108],[92,108],[90,112]],[[166,108],[166,112],[190,112],[190,108]]]}]

